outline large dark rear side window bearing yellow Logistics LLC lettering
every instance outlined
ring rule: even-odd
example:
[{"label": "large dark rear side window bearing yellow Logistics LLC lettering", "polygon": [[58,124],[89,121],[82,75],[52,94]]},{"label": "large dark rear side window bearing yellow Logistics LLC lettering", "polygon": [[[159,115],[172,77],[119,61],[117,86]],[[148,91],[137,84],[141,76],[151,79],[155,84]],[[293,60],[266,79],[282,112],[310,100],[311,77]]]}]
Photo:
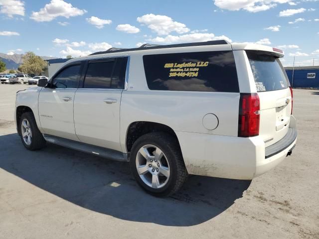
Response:
[{"label": "large dark rear side window bearing yellow Logistics LLC lettering", "polygon": [[232,51],[143,56],[150,90],[239,92]]}]

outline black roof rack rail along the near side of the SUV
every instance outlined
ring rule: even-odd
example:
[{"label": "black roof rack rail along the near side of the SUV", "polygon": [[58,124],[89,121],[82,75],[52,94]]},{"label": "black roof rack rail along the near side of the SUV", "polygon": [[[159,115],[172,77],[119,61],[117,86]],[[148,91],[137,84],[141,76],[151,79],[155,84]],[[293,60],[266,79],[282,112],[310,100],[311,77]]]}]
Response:
[{"label": "black roof rack rail along the near side of the SUV", "polygon": [[142,51],[142,50],[152,50],[152,49],[163,49],[163,48],[174,48],[174,47],[186,47],[186,46],[209,46],[209,45],[225,45],[230,44],[226,40],[215,40],[215,41],[204,41],[204,42],[191,42],[191,43],[180,43],[180,44],[170,44],[170,45],[153,45],[153,44],[143,44],[137,48],[115,48],[112,47],[107,51],[99,51],[92,53],[92,55],[100,55],[106,53],[113,53],[113,52],[126,52],[126,51]]}]

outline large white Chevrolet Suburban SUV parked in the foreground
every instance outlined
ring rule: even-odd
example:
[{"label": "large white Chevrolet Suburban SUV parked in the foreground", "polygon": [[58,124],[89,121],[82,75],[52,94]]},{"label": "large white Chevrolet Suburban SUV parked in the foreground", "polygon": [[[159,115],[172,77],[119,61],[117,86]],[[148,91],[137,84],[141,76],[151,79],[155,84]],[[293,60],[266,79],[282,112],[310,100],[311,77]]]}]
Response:
[{"label": "large white Chevrolet Suburban SUV parked in the foreground", "polygon": [[250,180],[297,140],[292,89],[269,46],[224,40],[110,49],[71,59],[16,96],[27,149],[45,142],[119,161],[147,192],[188,174]]}]

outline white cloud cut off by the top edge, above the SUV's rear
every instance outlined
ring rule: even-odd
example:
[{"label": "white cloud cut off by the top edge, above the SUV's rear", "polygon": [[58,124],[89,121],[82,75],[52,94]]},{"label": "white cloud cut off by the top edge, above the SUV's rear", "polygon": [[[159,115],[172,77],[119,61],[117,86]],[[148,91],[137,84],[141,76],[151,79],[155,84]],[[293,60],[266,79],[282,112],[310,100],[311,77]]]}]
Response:
[{"label": "white cloud cut off by the top edge, above the SUV's rear", "polygon": [[287,3],[291,0],[214,0],[214,4],[222,9],[236,11],[240,9],[249,12],[265,11],[277,6],[277,3]]}]

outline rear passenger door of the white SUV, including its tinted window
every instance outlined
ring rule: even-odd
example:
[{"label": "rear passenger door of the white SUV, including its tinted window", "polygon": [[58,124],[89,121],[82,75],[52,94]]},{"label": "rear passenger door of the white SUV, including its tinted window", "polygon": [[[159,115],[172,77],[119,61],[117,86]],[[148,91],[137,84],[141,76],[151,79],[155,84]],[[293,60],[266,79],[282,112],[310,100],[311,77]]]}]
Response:
[{"label": "rear passenger door of the white SUV, including its tinted window", "polygon": [[83,88],[75,93],[74,123],[81,142],[122,151],[120,104],[127,57],[87,62]]}]

